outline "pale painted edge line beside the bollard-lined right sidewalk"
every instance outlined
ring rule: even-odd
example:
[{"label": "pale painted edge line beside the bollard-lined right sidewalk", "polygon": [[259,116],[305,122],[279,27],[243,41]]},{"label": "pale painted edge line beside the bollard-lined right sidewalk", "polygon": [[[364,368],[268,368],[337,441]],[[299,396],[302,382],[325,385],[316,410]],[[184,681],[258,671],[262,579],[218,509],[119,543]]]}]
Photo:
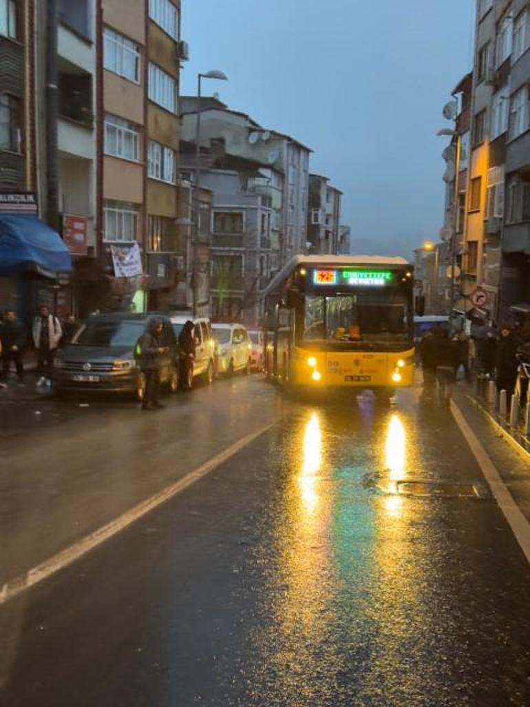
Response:
[{"label": "pale painted edge line beside the bollard-lined right sidewalk", "polygon": [[515,503],[512,494],[507,489],[505,482],[502,481],[499,472],[497,472],[495,464],[490,460],[488,452],[486,452],[483,445],[481,445],[478,437],[464,419],[464,415],[461,413],[454,400],[451,401],[451,412],[461,429],[461,433],[466,438],[478,462],[478,466],[481,467],[485,480],[488,481],[488,485],[490,486],[495,501],[497,501],[497,505],[500,510],[502,510],[502,513],[504,513],[508,525],[512,528],[512,532],[519,543],[519,547],[521,547],[524,552],[526,560],[530,562],[530,523],[524,517],[517,503]]}]

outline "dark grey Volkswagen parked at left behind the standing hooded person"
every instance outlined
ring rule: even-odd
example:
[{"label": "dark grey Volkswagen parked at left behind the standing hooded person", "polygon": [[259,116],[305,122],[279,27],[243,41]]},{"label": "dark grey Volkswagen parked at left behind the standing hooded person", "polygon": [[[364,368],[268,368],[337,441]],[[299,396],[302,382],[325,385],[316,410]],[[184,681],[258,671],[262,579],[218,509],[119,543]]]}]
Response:
[{"label": "dark grey Volkswagen parked at left behind the standing hooded person", "polygon": [[172,392],[178,388],[177,340],[168,317],[158,314],[114,313],[85,320],[54,363],[54,392],[99,391],[134,393],[143,399],[146,379],[134,359],[134,346],[153,318],[164,325],[160,345],[160,382]]}]

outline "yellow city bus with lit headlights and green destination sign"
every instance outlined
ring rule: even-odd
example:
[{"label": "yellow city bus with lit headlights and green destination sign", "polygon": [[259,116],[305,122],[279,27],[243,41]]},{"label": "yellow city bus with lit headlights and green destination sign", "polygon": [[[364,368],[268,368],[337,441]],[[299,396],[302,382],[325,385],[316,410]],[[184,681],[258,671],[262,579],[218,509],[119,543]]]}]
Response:
[{"label": "yellow city bus with lit headlights and green destination sign", "polygon": [[383,395],[413,385],[414,277],[404,258],[299,255],[264,298],[268,378]]}]

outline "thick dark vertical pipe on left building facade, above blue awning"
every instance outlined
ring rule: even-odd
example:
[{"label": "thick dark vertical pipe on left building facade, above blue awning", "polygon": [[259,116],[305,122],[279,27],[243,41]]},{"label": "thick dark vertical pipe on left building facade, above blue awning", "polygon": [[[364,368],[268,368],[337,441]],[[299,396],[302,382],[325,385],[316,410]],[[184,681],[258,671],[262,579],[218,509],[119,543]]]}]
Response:
[{"label": "thick dark vertical pipe on left building facade, above blue awning", "polygon": [[59,223],[59,71],[57,69],[58,0],[47,0],[46,13],[46,182],[47,222],[54,230]]}]

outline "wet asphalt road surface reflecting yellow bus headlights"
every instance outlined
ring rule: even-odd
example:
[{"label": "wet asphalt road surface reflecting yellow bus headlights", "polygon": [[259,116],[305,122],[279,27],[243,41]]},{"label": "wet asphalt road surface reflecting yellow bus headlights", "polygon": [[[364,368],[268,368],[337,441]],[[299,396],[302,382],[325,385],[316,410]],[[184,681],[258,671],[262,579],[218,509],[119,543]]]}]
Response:
[{"label": "wet asphalt road surface reflecting yellow bus headlights", "polygon": [[4,440],[2,581],[277,422],[0,606],[2,706],[530,704],[529,566],[435,400],[241,378],[158,417],[74,407]]}]

